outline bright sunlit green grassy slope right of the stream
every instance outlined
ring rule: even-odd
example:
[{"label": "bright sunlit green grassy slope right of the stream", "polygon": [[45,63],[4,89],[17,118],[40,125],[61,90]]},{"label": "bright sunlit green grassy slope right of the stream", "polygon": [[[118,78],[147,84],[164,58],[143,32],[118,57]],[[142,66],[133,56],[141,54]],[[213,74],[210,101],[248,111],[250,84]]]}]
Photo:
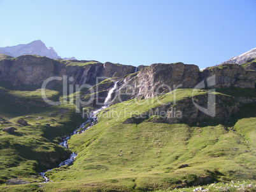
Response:
[{"label": "bright sunlit green grassy slope right of the stream", "polygon": [[[190,98],[191,91],[176,90],[176,99]],[[245,92],[238,88],[219,91],[217,94],[235,97]],[[255,90],[246,92],[255,95]],[[201,90],[196,95],[206,93]],[[157,99],[173,102],[173,94]],[[153,100],[129,100],[102,111],[97,125],[68,141],[70,149],[78,153],[75,163],[48,172],[54,182],[41,188],[148,191],[196,185],[199,178],[206,182],[210,178],[210,182],[255,179],[255,103],[242,104],[229,123],[212,120],[197,126],[153,123],[149,118],[122,124],[135,111],[158,106]]]}]

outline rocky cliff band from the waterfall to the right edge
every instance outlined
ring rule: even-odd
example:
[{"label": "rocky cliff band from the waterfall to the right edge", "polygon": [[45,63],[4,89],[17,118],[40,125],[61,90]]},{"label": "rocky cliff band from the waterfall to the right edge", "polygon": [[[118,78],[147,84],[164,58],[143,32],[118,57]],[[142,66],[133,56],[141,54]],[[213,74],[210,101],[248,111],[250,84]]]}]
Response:
[{"label": "rocky cliff band from the waterfall to the right edge", "polygon": [[256,71],[246,71],[237,64],[208,67],[203,72],[196,65],[153,64],[120,80],[113,104],[136,97],[152,98],[176,88],[255,88],[255,83]]}]

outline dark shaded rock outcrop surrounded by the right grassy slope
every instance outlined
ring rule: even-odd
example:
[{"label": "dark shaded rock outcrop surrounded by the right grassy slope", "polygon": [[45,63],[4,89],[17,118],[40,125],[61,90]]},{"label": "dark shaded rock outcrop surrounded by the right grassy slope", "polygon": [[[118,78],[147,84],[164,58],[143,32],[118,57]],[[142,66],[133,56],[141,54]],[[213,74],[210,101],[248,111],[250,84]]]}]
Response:
[{"label": "dark shaded rock outcrop surrounded by the right grassy slope", "polygon": [[[206,91],[205,91],[206,92]],[[238,113],[239,102],[234,97],[217,94],[215,103],[208,106],[208,93],[197,95],[193,99],[187,97],[175,103],[162,104],[149,109],[146,113],[127,118],[123,123],[141,123],[152,121],[153,123],[194,123],[196,121],[224,119],[229,120],[232,114]],[[203,113],[194,102],[203,108],[210,109],[210,113]],[[213,110],[211,110],[213,109]]]}]

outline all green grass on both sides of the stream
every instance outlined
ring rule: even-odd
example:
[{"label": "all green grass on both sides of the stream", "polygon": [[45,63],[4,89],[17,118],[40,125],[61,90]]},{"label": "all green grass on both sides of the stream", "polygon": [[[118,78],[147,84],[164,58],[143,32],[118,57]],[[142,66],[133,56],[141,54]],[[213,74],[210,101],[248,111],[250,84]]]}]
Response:
[{"label": "all green grass on both sides of the stream", "polygon": [[[109,81],[101,84],[106,83]],[[27,92],[24,88],[5,85],[0,92],[6,98],[1,104],[0,117],[9,122],[8,126],[17,128],[13,134],[0,131],[0,182],[8,178],[31,182],[22,186],[3,184],[1,191],[152,191],[171,190],[184,183],[186,187],[193,186],[200,178],[211,178],[201,184],[255,181],[255,104],[242,104],[230,122],[153,123],[151,116],[123,124],[132,115],[172,104],[174,99],[177,102],[191,99],[192,89],[178,89],[153,99],[128,100],[101,111],[96,125],[68,141],[69,149],[78,154],[73,165],[53,168],[46,172],[53,182],[39,184],[41,178],[31,175],[54,167],[68,156],[70,151],[58,145],[59,137],[68,135],[82,119],[74,113],[75,106],[24,109],[13,104],[15,98],[40,103],[36,87]],[[58,99],[60,92],[48,90],[47,94],[51,99]],[[194,97],[207,94],[207,90],[197,90]],[[216,94],[235,102],[235,97],[253,97],[255,90],[220,89]],[[27,120],[29,125],[15,125],[20,119]],[[7,125],[0,125],[3,127]],[[181,165],[187,166],[180,168]]]}]

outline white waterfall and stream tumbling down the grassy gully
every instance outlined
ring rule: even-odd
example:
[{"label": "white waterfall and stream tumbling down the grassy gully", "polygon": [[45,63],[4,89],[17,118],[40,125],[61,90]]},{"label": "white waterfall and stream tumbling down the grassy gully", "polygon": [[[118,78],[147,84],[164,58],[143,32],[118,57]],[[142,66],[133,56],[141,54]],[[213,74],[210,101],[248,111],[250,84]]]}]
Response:
[{"label": "white waterfall and stream tumbling down the grassy gully", "polygon": [[[136,69],[137,69],[137,67],[136,67]],[[76,130],[74,130],[71,135],[81,134],[97,123],[96,114],[99,113],[99,111],[106,109],[106,107],[108,107],[108,105],[111,102],[111,95],[117,89],[117,86],[118,86],[117,84],[118,84],[118,81],[115,82],[115,85],[113,86],[113,88],[111,88],[110,91],[108,92],[108,95],[107,95],[106,99],[104,100],[104,106],[101,107],[100,109],[97,109],[96,111],[90,112],[89,119],[87,121],[85,121],[84,123],[82,123],[80,125],[80,127],[76,128]],[[70,139],[71,135],[69,135],[68,137],[60,137],[60,139],[62,139],[62,142],[60,142],[59,145],[62,147],[66,147],[68,149],[67,141],[68,141],[68,139]],[[69,164],[73,163],[75,158],[76,158],[76,154],[71,153],[68,160],[60,162],[58,167],[60,167],[62,165],[69,165]],[[45,179],[45,182],[50,181],[50,179],[45,177],[45,173],[50,170],[52,170],[52,169],[48,169],[48,170],[45,170],[45,172],[39,173],[39,175],[41,175],[41,177],[43,177]]]}]

